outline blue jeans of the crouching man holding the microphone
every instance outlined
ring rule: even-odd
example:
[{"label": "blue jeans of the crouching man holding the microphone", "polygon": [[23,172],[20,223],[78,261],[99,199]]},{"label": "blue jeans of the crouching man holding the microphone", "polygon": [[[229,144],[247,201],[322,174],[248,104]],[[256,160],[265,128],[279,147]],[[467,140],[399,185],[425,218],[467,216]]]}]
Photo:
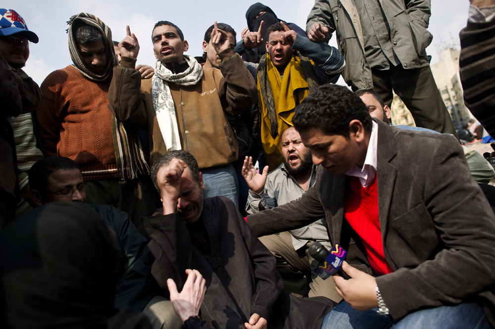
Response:
[{"label": "blue jeans of the crouching man holding the microphone", "polygon": [[490,329],[478,304],[462,303],[416,311],[393,324],[389,316],[376,308],[359,312],[343,301],[323,320],[322,329]]}]

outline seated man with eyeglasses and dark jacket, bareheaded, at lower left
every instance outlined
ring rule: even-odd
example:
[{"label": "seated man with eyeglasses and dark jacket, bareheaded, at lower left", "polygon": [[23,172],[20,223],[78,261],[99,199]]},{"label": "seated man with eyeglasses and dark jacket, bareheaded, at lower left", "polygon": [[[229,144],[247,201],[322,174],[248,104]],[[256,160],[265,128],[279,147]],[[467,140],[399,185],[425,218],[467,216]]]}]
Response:
[{"label": "seated man with eyeglasses and dark jacket, bareheaded, at lower left", "polygon": [[[88,186],[85,184],[79,165],[62,156],[50,156],[36,162],[29,171],[31,195],[38,206],[50,202],[84,202]],[[149,314],[155,303],[168,305],[171,313],[165,328],[180,328],[181,322],[173,311],[169,300],[155,296],[158,286],[151,276],[153,258],[149,253],[148,241],[141,235],[129,215],[109,205],[86,203],[96,211],[108,227],[115,242],[115,297],[114,307],[129,306],[131,310]],[[165,308],[164,307],[164,308]],[[161,322],[163,323],[163,321]],[[174,326],[176,324],[176,326]]]}]

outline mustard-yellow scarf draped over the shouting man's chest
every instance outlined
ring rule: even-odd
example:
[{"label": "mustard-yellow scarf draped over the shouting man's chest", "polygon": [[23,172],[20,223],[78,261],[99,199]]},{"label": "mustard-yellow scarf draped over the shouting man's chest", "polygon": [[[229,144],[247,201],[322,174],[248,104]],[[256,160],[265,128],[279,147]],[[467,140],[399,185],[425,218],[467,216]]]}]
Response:
[{"label": "mustard-yellow scarf draped over the shouting man's chest", "polygon": [[[311,61],[311,64],[314,65],[313,61]],[[306,98],[309,90],[301,60],[295,55],[292,55],[291,61],[285,67],[283,77],[281,77],[279,71],[273,65],[270,55],[266,53],[266,76],[270,83],[277,113],[278,135],[275,138],[270,134],[270,118],[261,96],[259,78],[257,79],[257,86],[259,98],[261,99],[261,143],[265,153],[266,164],[272,171],[282,163],[282,133],[293,126],[294,109]]]}]

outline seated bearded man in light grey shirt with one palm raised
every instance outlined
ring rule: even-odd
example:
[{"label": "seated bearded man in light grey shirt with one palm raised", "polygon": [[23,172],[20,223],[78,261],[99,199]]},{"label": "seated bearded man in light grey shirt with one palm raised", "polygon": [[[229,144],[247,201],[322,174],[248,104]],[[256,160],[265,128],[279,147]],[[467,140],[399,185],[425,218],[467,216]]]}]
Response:
[{"label": "seated bearded man in light grey shirt with one palm raised", "polygon": [[[249,215],[296,200],[315,183],[316,166],[311,159],[311,150],[304,146],[296,128],[290,127],[284,131],[281,140],[284,162],[270,174],[267,175],[268,166],[262,174],[258,174],[252,158],[246,157],[244,161],[242,173],[249,187],[246,205]],[[308,253],[309,246],[319,241],[327,249],[332,247],[325,217],[300,229],[262,236],[260,241],[277,259],[277,269],[284,281],[285,291],[301,296],[325,296],[337,302],[342,299],[328,280],[323,284],[321,278],[312,275],[308,285],[306,279],[310,276],[313,260]]]}]

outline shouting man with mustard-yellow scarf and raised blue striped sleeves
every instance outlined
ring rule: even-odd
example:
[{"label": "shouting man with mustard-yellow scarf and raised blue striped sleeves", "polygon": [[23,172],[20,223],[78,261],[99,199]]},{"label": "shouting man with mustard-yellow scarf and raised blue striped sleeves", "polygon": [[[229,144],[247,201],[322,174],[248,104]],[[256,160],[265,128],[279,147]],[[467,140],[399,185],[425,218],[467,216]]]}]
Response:
[{"label": "shouting man with mustard-yellow scarf and raised blue striped sleeves", "polygon": [[[263,24],[263,23],[262,23]],[[239,42],[240,54],[260,47],[263,25]],[[284,22],[267,30],[266,53],[257,66],[258,101],[261,109],[261,143],[269,170],[282,163],[282,133],[292,127],[295,107],[315,88],[336,82],[346,63],[335,47],[311,43]],[[241,47],[242,44],[242,47]]]}]

